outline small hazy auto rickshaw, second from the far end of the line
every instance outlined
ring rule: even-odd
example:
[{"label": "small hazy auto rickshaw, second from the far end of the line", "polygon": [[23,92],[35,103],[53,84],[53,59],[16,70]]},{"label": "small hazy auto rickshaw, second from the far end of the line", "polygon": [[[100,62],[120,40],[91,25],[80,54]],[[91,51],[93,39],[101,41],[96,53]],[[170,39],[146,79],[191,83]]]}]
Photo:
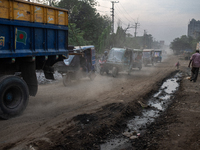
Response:
[{"label": "small hazy auto rickshaw, second from the far end of the line", "polygon": [[154,65],[154,49],[143,49],[143,64],[146,67],[148,64]]}]

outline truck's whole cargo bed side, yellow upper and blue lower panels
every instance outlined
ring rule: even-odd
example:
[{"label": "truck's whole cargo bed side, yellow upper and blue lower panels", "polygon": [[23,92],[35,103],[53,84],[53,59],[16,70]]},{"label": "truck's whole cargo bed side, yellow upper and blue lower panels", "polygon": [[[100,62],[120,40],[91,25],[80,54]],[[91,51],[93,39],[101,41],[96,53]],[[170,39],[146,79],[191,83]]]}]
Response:
[{"label": "truck's whole cargo bed side, yellow upper and blue lower panels", "polygon": [[68,55],[68,11],[0,0],[0,58]]}]

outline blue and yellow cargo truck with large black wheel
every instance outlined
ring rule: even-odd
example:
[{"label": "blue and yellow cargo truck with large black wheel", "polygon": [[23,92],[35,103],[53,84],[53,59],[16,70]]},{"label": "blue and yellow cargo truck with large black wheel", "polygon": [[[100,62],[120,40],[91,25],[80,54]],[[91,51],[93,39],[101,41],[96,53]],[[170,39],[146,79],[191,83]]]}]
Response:
[{"label": "blue and yellow cargo truck with large black wheel", "polygon": [[[20,0],[0,0],[0,117],[20,115],[38,90],[36,70],[54,79],[68,56],[68,11]],[[65,57],[66,58],[66,57]]]}]

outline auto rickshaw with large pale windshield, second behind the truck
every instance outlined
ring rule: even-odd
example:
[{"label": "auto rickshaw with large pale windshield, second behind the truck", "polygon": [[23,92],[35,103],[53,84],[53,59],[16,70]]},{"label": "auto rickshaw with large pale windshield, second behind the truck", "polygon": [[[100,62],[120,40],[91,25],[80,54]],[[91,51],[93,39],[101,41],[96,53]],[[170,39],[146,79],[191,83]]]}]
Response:
[{"label": "auto rickshaw with large pale windshield, second behind the truck", "polygon": [[112,70],[113,77],[116,77],[121,71],[131,72],[132,53],[133,49],[130,48],[112,48],[109,51],[106,65],[109,70]]}]

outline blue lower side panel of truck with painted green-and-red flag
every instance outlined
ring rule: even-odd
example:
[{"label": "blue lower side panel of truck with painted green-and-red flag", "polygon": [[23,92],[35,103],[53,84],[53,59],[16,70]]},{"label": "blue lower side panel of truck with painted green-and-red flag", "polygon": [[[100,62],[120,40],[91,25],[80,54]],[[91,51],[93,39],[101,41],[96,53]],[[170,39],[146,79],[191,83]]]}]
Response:
[{"label": "blue lower side panel of truck with painted green-and-red flag", "polygon": [[[1,20],[1,19],[0,19]],[[0,24],[0,58],[67,55],[67,30]]]}]

